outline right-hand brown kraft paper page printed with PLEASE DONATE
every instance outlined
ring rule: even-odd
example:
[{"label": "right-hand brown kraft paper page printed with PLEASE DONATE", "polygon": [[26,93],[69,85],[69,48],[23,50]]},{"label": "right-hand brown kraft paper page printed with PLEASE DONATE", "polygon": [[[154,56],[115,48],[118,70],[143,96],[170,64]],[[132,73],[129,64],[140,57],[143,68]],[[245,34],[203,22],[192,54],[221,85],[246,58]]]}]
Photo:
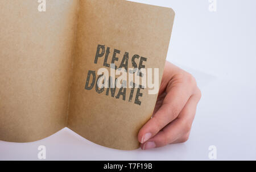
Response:
[{"label": "right-hand brown kraft paper page printed with PLEASE DONATE", "polygon": [[[129,102],[131,89],[126,89],[125,98],[115,90],[107,94],[85,89],[89,70],[96,72],[112,62],[114,49],[119,67],[124,54],[129,54],[128,68],[133,68],[131,58],[137,65],[142,57],[147,68],[159,68],[159,81],[167,56],[174,11],[165,7],[143,5],[129,1],[92,0],[80,1],[78,15],[76,56],[73,64],[73,83],[69,104],[68,127],[86,139],[115,149],[137,149],[139,129],[151,118],[157,94],[150,95],[148,89],[141,89],[138,97],[141,105],[135,103],[137,89]],[[98,45],[105,45],[105,54],[94,63]],[[109,51],[108,51],[109,47]],[[102,50],[102,49],[101,49]],[[127,55],[127,54],[126,54]],[[118,77],[118,76],[116,76]],[[92,77],[90,83],[92,83]],[[160,84],[160,83],[159,83]],[[125,100],[123,100],[125,99]]]}]

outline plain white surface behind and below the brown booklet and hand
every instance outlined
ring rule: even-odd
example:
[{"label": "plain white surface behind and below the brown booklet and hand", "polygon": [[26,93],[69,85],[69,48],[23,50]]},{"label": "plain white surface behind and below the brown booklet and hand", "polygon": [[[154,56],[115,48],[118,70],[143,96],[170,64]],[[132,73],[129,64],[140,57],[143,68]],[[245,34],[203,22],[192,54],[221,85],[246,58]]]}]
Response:
[{"label": "plain white surface behind and below the brown booklet and hand", "polygon": [[65,128],[47,139],[17,144],[0,141],[0,160],[256,160],[256,1],[136,1],[176,12],[167,59],[191,72],[203,93],[185,144],[121,151],[93,144]]}]

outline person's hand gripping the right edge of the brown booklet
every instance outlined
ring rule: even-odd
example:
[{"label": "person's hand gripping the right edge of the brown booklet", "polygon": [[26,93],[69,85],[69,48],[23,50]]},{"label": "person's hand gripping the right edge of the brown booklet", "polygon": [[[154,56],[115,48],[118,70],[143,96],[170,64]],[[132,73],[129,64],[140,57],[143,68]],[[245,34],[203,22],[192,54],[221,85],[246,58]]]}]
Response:
[{"label": "person's hand gripping the right edge of the brown booklet", "polygon": [[154,113],[138,134],[141,148],[187,141],[200,99],[195,78],[166,61]]}]

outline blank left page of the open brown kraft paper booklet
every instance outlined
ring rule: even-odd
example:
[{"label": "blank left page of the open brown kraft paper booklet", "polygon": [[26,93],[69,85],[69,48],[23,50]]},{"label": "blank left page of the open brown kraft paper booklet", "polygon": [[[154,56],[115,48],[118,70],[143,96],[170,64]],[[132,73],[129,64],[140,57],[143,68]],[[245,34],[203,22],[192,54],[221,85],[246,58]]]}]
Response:
[{"label": "blank left page of the open brown kraft paper booklet", "polygon": [[78,1],[0,1],[0,140],[29,142],[66,125]]}]

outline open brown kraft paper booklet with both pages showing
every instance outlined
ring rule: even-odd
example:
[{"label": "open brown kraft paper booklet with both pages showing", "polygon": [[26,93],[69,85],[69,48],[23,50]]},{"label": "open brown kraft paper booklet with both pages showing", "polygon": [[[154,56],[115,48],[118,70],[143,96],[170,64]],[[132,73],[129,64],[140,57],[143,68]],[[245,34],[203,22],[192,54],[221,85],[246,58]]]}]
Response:
[{"label": "open brown kraft paper booklet with both pages showing", "polygon": [[96,144],[137,149],[158,95],[99,88],[93,77],[114,64],[158,68],[161,81],[174,15],[122,0],[47,0],[41,12],[36,0],[1,0],[0,140],[31,142],[68,127]]}]

